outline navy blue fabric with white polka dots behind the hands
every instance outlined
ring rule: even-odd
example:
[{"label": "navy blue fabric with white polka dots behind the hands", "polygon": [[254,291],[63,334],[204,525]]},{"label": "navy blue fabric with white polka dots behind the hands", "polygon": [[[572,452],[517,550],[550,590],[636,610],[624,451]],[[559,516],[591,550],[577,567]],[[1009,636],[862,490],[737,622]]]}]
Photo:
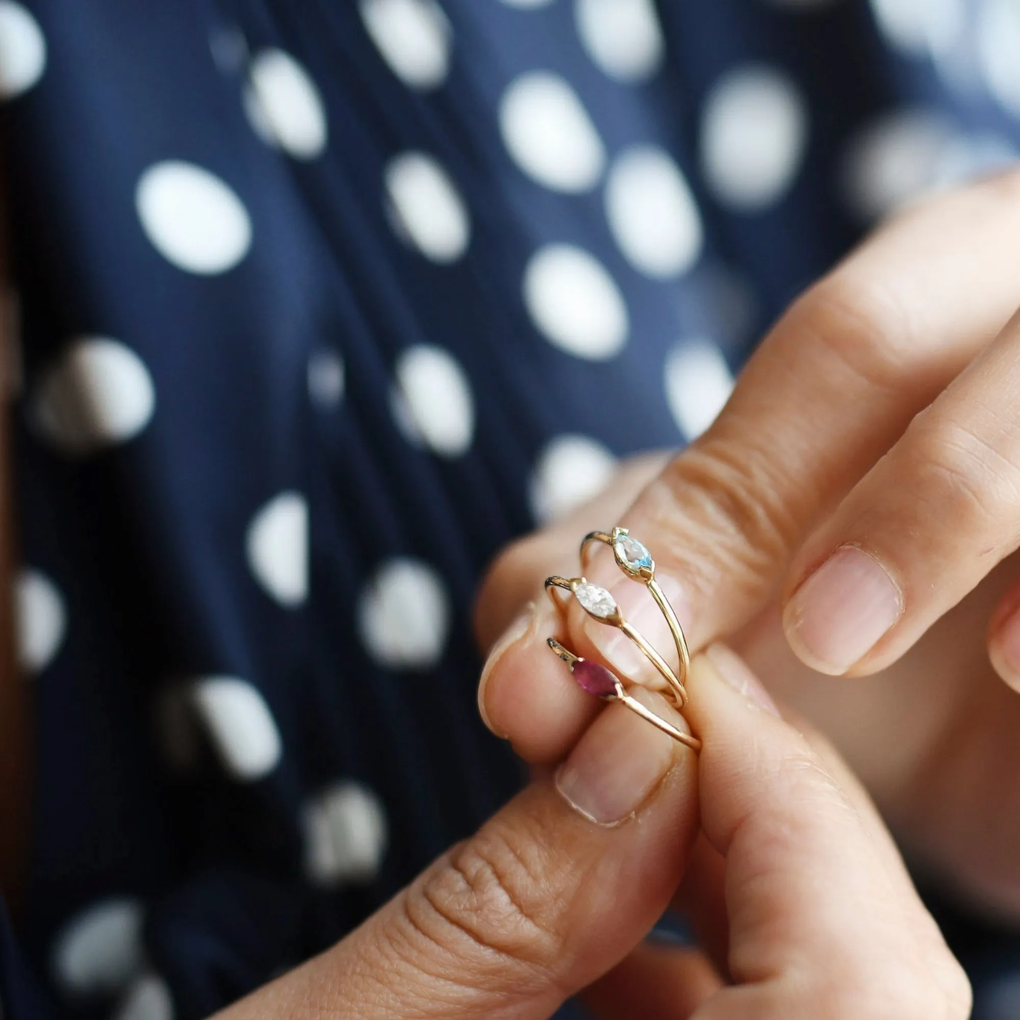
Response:
[{"label": "navy blue fabric with white polka dots behind the hands", "polygon": [[704,431],[875,218],[1013,161],[1017,68],[1011,0],[0,0],[6,1020],[207,1016],[508,797],[484,564]]}]

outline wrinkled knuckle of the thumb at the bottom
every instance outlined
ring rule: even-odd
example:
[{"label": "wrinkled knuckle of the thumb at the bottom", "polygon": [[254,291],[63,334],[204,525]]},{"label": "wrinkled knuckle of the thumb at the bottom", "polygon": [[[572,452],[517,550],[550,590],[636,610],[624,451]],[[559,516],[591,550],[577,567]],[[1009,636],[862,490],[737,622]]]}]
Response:
[{"label": "wrinkled knuckle of the thumb at the bottom", "polygon": [[456,973],[548,984],[564,938],[555,924],[548,863],[498,825],[454,848],[406,899],[407,923]]}]

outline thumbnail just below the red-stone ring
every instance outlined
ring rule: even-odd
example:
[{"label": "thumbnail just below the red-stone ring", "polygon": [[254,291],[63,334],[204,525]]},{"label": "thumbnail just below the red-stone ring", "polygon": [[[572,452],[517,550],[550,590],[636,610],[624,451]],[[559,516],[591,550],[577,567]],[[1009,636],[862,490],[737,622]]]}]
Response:
[{"label": "thumbnail just below the red-stone ring", "polygon": [[[660,695],[636,686],[630,694],[653,712],[685,725]],[[638,811],[673,767],[674,743],[622,705],[613,705],[560,766],[556,788],[590,821],[619,824]]]}]

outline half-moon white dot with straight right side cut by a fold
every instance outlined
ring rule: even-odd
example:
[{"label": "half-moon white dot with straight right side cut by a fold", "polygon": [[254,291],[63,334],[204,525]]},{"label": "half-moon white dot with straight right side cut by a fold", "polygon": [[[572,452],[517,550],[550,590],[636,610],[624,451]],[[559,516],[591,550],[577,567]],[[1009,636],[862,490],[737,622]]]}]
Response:
[{"label": "half-moon white dot with straight right side cut by a fold", "polygon": [[308,503],[300,493],[280,493],[252,519],[248,565],[280,605],[308,598]]}]

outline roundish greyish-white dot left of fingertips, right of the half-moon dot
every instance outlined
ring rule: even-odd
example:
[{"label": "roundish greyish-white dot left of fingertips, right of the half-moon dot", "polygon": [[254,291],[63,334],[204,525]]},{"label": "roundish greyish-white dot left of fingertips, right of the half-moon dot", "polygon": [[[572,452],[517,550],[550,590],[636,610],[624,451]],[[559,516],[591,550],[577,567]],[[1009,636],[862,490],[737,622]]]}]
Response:
[{"label": "roundish greyish-white dot left of fingertips, right of the half-moon dot", "polygon": [[427,669],[443,655],[450,604],[439,574],[419,560],[385,563],[358,605],[361,638],[389,669]]}]

